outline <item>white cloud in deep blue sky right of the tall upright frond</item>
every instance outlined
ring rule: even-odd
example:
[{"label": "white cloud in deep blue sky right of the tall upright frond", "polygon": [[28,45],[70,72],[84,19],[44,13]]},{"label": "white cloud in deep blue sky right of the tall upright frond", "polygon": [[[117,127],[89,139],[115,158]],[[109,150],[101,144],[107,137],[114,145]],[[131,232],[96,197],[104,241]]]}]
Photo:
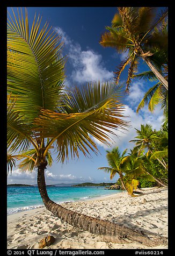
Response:
[{"label": "white cloud in deep blue sky right of the tall upright frond", "polygon": [[93,49],[82,51],[81,45],[72,41],[60,27],[56,27],[55,31],[62,34],[68,51],[68,60],[73,67],[71,75],[67,77],[68,81],[71,79],[73,82],[84,83],[113,79],[113,72],[105,68],[100,54]]}]

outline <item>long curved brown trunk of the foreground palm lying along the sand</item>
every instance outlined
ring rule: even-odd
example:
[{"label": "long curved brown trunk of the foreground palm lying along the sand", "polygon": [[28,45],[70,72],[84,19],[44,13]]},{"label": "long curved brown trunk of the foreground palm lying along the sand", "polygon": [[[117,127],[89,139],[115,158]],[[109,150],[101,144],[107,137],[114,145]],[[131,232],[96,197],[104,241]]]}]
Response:
[{"label": "long curved brown trunk of the foreground palm lying along the sand", "polygon": [[94,217],[68,210],[63,208],[61,205],[56,204],[50,200],[47,194],[44,174],[45,168],[46,164],[44,163],[38,166],[38,188],[42,201],[47,210],[52,212],[55,216],[61,218],[63,221],[72,226],[79,227],[84,231],[97,234],[105,241],[112,241],[114,243],[123,244],[136,241],[147,246],[167,244],[167,239],[165,237],[160,237],[152,233],[141,233],[140,231],[129,229],[128,227],[114,224],[110,221],[96,219]]}]

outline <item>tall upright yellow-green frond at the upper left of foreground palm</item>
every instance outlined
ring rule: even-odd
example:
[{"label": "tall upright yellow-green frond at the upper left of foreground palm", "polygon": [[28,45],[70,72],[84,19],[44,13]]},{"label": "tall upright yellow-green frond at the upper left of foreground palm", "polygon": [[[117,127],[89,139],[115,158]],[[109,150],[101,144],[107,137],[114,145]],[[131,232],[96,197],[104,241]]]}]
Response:
[{"label": "tall upright yellow-green frond at the upper left of foreground palm", "polygon": [[[13,11],[13,10],[12,10]],[[18,11],[19,12],[19,11]],[[63,97],[64,64],[60,36],[34,18],[31,31],[28,15],[21,9],[8,18],[8,92],[18,95],[14,109],[32,123],[41,108],[56,110]]]}]

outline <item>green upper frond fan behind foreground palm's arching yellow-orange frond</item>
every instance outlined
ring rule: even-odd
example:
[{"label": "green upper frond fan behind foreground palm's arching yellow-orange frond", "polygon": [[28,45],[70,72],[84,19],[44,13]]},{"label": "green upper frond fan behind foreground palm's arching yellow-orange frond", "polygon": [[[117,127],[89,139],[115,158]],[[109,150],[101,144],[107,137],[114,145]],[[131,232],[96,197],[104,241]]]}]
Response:
[{"label": "green upper frond fan behind foreground palm's arching yellow-orange frond", "polygon": [[[111,101],[113,104],[116,104],[119,111],[123,106],[119,104],[122,96],[122,84],[119,86],[114,82],[91,82],[85,86],[75,87],[74,90],[68,91],[67,97],[63,101],[63,110],[64,113],[83,113],[100,107],[103,108],[103,106],[106,108],[105,104]],[[112,109],[110,112],[112,113]],[[119,116],[119,112],[117,116]]]}]

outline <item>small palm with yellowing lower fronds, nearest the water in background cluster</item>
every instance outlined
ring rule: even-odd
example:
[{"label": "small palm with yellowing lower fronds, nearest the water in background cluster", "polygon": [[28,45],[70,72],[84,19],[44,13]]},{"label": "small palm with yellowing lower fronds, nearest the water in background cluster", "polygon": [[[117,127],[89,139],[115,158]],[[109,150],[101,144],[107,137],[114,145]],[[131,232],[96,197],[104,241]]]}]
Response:
[{"label": "small palm with yellowing lower fronds, nearest the water in background cluster", "polygon": [[104,172],[110,173],[111,180],[116,174],[118,174],[120,177],[122,187],[123,189],[126,190],[126,186],[123,181],[123,166],[125,166],[125,161],[127,160],[127,157],[125,157],[127,149],[124,150],[122,154],[120,153],[118,147],[113,148],[112,151],[106,151],[106,152],[107,152],[106,158],[108,161],[108,165],[110,167],[99,167],[98,169],[104,170]]}]

